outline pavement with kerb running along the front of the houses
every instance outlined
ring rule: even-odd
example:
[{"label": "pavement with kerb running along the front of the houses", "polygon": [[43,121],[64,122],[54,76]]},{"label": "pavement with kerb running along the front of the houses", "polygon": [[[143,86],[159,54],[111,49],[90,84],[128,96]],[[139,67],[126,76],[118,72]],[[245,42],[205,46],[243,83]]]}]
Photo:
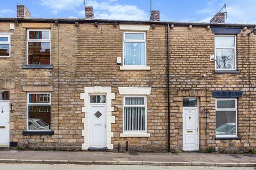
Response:
[{"label": "pavement with kerb running along the front of the houses", "polygon": [[256,167],[256,155],[2,150],[0,163]]}]

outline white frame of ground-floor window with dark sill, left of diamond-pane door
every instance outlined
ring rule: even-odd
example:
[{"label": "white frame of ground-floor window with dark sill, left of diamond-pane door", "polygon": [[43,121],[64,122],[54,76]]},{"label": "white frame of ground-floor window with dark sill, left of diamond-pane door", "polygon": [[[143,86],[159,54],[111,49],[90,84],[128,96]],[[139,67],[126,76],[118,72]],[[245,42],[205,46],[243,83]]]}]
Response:
[{"label": "white frame of ground-floor window with dark sill, left of diamond-pane door", "polygon": [[[50,101],[49,103],[30,103],[29,102],[29,95],[30,94],[50,94]],[[51,131],[52,129],[52,105],[51,105],[51,101],[52,101],[52,95],[50,92],[28,92],[27,93],[27,131]],[[50,129],[46,129],[46,130],[29,130],[28,129],[28,119],[29,119],[29,115],[28,115],[28,106],[51,106],[51,115],[50,115],[50,120],[51,120],[51,125],[50,125]]]}]

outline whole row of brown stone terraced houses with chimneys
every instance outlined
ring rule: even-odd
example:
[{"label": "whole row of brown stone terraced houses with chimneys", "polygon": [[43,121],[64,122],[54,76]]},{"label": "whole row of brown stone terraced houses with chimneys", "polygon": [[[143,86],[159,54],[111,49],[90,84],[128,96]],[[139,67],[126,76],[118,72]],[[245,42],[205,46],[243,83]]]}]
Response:
[{"label": "whole row of brown stone terraced houses with chimneys", "polygon": [[255,25],[85,10],[31,19],[17,5],[17,18],[0,19],[1,148],[255,149]]}]

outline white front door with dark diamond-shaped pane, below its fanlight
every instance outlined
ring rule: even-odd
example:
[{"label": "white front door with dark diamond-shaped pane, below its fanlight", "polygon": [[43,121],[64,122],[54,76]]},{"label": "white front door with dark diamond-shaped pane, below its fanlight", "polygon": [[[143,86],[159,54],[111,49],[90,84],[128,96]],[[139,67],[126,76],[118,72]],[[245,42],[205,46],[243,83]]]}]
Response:
[{"label": "white front door with dark diamond-shaped pane, below its fanlight", "polygon": [[107,147],[106,105],[90,106],[90,147]]}]

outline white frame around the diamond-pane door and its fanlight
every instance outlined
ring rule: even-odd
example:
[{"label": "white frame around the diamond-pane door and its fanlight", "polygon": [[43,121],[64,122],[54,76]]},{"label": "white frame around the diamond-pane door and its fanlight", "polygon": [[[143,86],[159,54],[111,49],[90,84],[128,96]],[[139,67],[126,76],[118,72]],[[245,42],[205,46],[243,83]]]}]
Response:
[{"label": "white frame around the diamond-pane door and its fanlight", "polygon": [[[104,95],[106,97],[106,101],[105,103],[91,103],[91,96],[94,95]],[[105,121],[105,128],[104,128],[104,133],[105,133],[105,139],[104,139],[104,146],[93,146],[92,145],[92,106],[104,106],[105,107],[105,117],[104,117],[104,121]],[[89,94],[89,147],[92,148],[105,148],[107,147],[107,94],[103,94],[103,93],[92,93]]]}]

